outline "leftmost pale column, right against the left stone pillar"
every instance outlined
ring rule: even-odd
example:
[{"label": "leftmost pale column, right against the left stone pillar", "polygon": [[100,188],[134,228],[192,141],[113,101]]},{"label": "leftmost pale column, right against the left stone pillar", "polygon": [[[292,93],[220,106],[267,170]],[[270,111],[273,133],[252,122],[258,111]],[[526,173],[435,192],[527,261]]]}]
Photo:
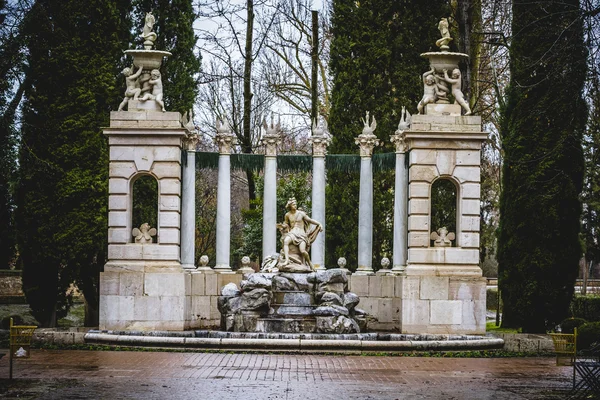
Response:
[{"label": "leftmost pale column, right against the left stone pillar", "polygon": [[196,242],[196,146],[200,137],[188,131],[183,139],[186,164],[181,188],[181,267],[194,269]]}]

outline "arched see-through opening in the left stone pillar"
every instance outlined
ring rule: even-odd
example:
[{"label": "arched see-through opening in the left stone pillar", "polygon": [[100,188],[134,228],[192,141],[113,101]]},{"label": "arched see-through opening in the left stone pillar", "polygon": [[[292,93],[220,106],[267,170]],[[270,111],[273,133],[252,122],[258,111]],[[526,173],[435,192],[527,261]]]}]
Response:
[{"label": "arched see-through opening in the left stone pillar", "polygon": [[[133,228],[147,223],[158,229],[158,181],[152,175],[140,174],[132,180],[131,223]],[[156,243],[157,237],[152,242]]]}]

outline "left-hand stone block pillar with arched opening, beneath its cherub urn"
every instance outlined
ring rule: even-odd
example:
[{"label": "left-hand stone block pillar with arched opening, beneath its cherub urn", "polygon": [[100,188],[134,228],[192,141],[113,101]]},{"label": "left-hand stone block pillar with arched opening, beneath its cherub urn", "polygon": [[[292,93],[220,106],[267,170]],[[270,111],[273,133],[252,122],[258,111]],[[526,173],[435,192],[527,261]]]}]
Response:
[{"label": "left-hand stone block pillar with arched opening, beneath its cherub urn", "polygon": [[[190,275],[180,262],[181,148],[176,112],[111,112],[108,262],[100,274],[100,329],[183,330]],[[133,183],[158,181],[154,243],[134,243]]]}]

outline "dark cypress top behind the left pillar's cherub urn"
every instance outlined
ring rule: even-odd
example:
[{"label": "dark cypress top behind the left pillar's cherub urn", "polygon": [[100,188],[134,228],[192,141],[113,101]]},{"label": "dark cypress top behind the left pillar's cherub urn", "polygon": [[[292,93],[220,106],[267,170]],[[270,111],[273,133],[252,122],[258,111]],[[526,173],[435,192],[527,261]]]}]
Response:
[{"label": "dark cypress top behind the left pillar's cherub urn", "polygon": [[[168,111],[185,113],[198,96],[200,55],[194,54],[198,37],[193,23],[196,14],[191,0],[136,0],[134,2],[134,30],[139,34],[147,12],[156,19],[154,32],[158,35],[154,48],[170,51],[161,67]],[[136,38],[138,43],[140,38]]]}]

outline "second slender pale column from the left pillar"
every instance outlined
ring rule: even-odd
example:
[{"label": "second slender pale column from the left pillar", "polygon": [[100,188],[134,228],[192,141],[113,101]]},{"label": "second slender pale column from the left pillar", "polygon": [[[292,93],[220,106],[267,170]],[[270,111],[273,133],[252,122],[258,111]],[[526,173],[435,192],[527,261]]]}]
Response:
[{"label": "second slender pale column from the left pillar", "polygon": [[229,250],[231,237],[231,146],[235,138],[227,122],[217,121],[215,143],[219,147],[219,181],[217,184],[217,256],[215,272],[231,273]]}]

